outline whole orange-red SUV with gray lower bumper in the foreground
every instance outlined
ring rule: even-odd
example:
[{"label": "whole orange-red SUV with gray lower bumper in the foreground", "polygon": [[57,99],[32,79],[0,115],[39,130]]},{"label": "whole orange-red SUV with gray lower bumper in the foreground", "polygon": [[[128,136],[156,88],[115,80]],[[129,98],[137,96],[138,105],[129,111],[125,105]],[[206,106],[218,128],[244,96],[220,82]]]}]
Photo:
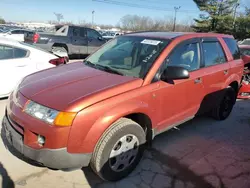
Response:
[{"label": "whole orange-red SUV with gray lower bumper in the foreground", "polygon": [[62,170],[90,164],[102,179],[116,181],[137,166],[156,135],[200,113],[226,119],[243,67],[229,35],[120,36],[84,62],[25,77],[10,95],[3,135],[39,164]]}]

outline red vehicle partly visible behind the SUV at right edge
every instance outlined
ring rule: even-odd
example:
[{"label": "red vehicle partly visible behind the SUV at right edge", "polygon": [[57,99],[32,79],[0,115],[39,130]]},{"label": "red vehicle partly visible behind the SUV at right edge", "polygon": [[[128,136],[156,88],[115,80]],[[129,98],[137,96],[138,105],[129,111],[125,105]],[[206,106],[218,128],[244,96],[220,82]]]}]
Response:
[{"label": "red vehicle partly visible behind the SUV at right edge", "polygon": [[242,59],[245,64],[238,99],[250,99],[250,45],[239,45]]}]

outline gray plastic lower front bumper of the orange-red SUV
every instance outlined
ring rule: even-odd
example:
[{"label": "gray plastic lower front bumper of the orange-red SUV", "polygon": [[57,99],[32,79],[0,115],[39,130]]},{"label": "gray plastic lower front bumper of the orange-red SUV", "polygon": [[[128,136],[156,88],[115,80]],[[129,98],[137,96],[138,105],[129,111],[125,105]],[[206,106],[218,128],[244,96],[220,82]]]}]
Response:
[{"label": "gray plastic lower front bumper of the orange-red SUV", "polygon": [[23,135],[13,128],[6,116],[2,121],[2,139],[3,141],[7,140],[6,146],[8,148],[14,148],[25,157],[54,169],[68,170],[88,166],[92,155],[71,154],[67,152],[67,148],[33,149],[28,147],[23,143]]}]

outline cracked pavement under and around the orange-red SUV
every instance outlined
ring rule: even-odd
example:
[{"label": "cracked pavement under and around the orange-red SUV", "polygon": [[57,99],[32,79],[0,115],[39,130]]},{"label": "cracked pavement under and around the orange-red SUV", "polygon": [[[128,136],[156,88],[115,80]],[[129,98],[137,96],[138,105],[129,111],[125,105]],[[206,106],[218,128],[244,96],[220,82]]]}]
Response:
[{"label": "cracked pavement under and around the orange-red SUV", "polygon": [[[0,100],[0,121],[6,100]],[[0,125],[1,127],[1,125]],[[84,168],[73,172],[31,166],[0,142],[0,187],[250,187],[250,101],[238,101],[223,122],[199,117],[156,137],[138,168],[109,183]]]}]

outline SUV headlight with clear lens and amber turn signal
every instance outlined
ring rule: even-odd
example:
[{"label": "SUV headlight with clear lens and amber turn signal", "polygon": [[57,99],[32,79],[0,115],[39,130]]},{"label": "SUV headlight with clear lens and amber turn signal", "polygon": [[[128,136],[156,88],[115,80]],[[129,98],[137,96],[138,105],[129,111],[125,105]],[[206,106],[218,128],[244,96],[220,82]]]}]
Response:
[{"label": "SUV headlight with clear lens and amber turn signal", "polygon": [[59,112],[33,101],[27,102],[24,112],[46,123],[56,126],[71,126],[76,116],[76,113]]}]

